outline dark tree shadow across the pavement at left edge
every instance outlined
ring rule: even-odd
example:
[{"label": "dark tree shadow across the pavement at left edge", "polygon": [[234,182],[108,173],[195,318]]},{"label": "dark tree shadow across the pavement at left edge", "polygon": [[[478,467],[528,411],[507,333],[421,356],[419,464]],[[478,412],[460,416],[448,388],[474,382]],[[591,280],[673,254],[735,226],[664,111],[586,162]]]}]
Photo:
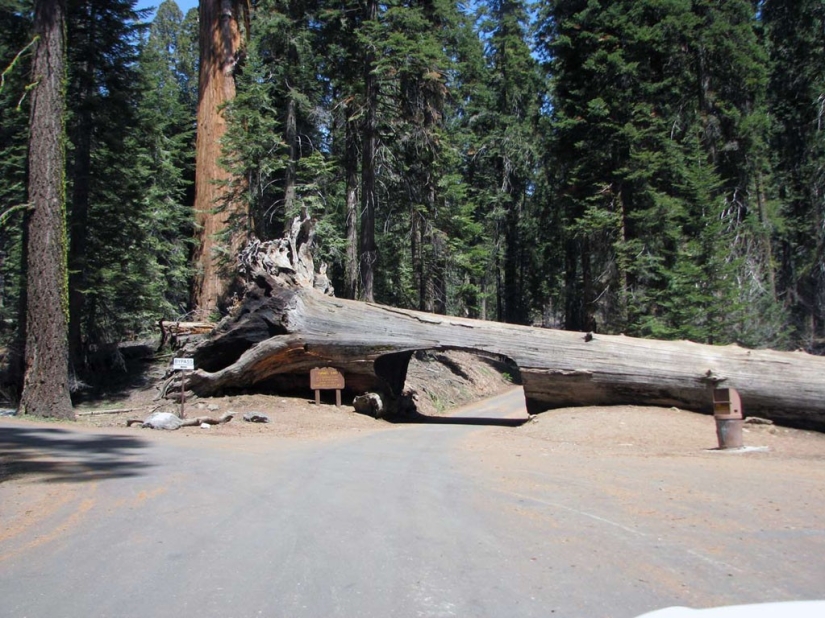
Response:
[{"label": "dark tree shadow across the pavement at left edge", "polygon": [[136,457],[148,445],[131,436],[0,425],[0,483],[82,483],[137,476],[149,467]]}]

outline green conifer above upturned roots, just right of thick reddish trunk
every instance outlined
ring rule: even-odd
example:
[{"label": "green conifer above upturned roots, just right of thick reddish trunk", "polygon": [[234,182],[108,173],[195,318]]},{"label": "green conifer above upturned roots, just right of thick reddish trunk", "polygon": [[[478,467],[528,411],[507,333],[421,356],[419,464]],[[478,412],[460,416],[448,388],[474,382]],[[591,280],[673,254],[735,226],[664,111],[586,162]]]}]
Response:
[{"label": "green conifer above upturned roots, just right of thick reddish trunk", "polygon": [[265,239],[280,236],[302,208],[322,221],[329,208],[327,115],[307,23],[311,9],[280,0],[256,6],[237,95],[227,108],[223,164],[238,179],[229,199],[247,204],[251,224],[239,224]]}]

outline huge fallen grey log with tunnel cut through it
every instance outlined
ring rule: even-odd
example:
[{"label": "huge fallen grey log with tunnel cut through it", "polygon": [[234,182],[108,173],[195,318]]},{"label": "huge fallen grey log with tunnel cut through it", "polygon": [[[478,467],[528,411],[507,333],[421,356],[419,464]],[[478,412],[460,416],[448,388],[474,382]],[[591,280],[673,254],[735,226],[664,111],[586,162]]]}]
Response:
[{"label": "huge fallen grey log with tunnel cut through it", "polygon": [[735,388],[746,415],[825,429],[825,358],[530,328],[256,288],[240,312],[193,351],[199,395],[250,387],[308,388],[314,367],[342,371],[347,390],[401,394],[416,350],[475,351],[510,362],[530,413],[587,405],[712,410],[714,387]]}]

